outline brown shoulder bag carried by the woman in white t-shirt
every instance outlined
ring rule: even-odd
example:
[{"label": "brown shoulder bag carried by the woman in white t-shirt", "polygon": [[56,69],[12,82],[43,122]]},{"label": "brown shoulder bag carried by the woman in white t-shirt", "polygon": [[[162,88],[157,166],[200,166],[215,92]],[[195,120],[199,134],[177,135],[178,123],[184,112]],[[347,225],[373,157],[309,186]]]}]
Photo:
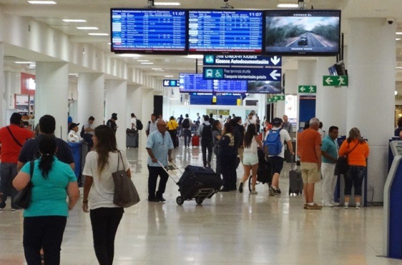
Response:
[{"label": "brown shoulder bag carried by the woman in white t-shirt", "polygon": [[[113,203],[120,207],[130,207],[140,201],[137,189],[130,177],[124,169],[123,158],[118,151],[117,171],[112,173],[113,181],[115,182],[115,192],[113,194]],[[120,159],[122,159],[123,170],[119,171]]]}]

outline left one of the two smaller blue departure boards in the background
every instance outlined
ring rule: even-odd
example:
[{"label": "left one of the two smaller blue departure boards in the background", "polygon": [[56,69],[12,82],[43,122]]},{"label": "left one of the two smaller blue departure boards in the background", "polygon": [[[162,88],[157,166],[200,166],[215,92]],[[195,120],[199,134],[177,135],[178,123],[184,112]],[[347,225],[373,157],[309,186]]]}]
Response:
[{"label": "left one of the two smaller blue departure boards in the background", "polygon": [[203,74],[180,73],[180,92],[212,93],[214,81],[204,79]]}]

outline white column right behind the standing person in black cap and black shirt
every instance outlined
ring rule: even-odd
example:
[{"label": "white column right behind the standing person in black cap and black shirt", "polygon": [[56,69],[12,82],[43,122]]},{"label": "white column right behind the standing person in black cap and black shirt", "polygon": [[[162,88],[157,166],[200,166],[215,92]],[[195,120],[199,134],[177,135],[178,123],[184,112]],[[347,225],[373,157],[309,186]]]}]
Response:
[{"label": "white column right behind the standing person in black cap and black shirt", "polygon": [[106,121],[111,118],[112,113],[117,113],[116,131],[117,145],[120,149],[126,149],[126,117],[127,109],[127,81],[122,80],[107,80],[105,82],[105,114]]}]

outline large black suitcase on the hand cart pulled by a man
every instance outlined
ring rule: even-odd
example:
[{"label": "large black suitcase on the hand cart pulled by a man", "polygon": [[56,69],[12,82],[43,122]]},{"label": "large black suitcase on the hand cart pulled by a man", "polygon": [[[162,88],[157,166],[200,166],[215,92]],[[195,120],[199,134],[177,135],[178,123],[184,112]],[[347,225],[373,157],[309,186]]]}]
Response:
[{"label": "large black suitcase on the hand cart pulled by a man", "polygon": [[184,169],[183,174],[177,182],[181,197],[186,200],[192,199],[199,189],[214,189],[218,191],[222,184],[221,177],[213,169],[190,165]]}]

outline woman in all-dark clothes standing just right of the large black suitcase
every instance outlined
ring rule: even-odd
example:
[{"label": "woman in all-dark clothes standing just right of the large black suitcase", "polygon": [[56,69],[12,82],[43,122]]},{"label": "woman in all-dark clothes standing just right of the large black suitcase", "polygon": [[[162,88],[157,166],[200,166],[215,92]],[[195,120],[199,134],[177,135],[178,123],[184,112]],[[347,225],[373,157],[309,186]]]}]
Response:
[{"label": "woman in all-dark clothes standing just right of the large black suitcase", "polygon": [[231,187],[236,186],[237,157],[233,127],[229,122],[225,123],[222,135],[221,140],[218,142],[220,146],[219,160],[223,177],[223,188],[221,191],[227,192],[231,190]]}]

